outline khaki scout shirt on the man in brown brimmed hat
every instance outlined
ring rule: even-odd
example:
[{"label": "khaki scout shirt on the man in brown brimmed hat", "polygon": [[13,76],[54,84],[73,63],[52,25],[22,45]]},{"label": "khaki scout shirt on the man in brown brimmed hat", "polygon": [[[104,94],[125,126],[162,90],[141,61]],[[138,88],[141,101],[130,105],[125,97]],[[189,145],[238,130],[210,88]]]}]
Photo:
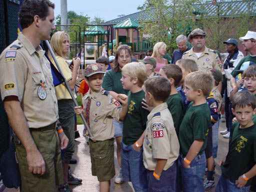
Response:
[{"label": "khaki scout shirt on the man in brown brimmed hat", "polygon": [[199,57],[196,56],[193,48],[191,48],[183,53],[182,58],[194,60],[198,66],[198,70],[202,71],[208,71],[212,68],[220,70],[222,67],[218,54],[206,46],[204,46],[204,51],[201,52]]}]

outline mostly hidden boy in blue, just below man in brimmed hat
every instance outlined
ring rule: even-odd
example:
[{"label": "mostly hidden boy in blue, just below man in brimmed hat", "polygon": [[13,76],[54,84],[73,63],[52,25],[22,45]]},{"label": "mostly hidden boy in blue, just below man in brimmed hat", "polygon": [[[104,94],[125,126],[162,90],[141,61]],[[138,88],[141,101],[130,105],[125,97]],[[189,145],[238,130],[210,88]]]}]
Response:
[{"label": "mostly hidden boy in blue, just below man in brimmed hat", "polygon": [[179,59],[176,61],[175,63],[176,65],[178,65],[181,68],[182,71],[182,78],[180,80],[181,86],[177,88],[178,93],[180,94],[182,100],[183,100],[183,105],[184,105],[184,109],[186,110],[188,107],[188,104],[190,103],[186,97],[185,97],[185,93],[184,93],[184,79],[185,76],[187,74],[189,74],[190,72],[194,72],[198,70],[198,66],[196,64],[196,62],[192,59],[186,58],[186,59]]}]

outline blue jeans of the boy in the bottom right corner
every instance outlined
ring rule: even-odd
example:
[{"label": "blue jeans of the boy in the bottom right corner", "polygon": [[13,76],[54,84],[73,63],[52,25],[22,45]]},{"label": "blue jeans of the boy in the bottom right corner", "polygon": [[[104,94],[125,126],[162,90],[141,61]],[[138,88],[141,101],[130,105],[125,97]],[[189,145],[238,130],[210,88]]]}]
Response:
[{"label": "blue jeans of the boy in the bottom right corner", "polygon": [[250,185],[238,188],[235,183],[233,183],[231,180],[221,174],[218,179],[215,192],[247,192],[249,191],[249,189]]}]

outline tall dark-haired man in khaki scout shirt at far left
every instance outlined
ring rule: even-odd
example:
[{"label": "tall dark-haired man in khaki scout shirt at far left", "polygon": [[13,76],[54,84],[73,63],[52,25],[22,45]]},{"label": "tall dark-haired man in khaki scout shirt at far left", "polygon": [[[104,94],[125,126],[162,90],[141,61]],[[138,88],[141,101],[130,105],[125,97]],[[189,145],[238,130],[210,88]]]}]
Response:
[{"label": "tall dark-haired man in khaki scout shirt at far left", "polygon": [[24,0],[19,22],[23,28],[0,54],[0,90],[21,174],[22,191],[54,191],[63,183],[60,147],[68,139],[60,129],[57,98],[50,65],[39,46],[55,28],[54,4]]}]

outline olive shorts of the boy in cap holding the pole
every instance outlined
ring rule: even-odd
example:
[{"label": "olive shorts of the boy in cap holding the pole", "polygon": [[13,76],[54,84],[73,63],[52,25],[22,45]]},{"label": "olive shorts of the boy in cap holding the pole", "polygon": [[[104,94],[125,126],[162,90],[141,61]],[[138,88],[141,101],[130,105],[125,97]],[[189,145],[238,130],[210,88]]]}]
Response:
[{"label": "olive shorts of the boy in cap holding the pole", "polygon": [[99,182],[108,181],[115,175],[114,139],[93,142],[89,139],[91,173]]}]

